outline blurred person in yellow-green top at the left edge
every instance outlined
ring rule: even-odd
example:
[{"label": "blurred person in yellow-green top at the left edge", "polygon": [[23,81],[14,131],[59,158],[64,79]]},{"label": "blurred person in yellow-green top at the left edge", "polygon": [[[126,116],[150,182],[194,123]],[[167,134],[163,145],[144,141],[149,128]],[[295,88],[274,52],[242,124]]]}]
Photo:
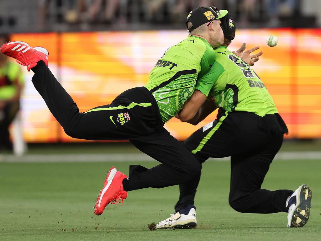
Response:
[{"label": "blurred person in yellow-green top at the left edge", "polygon": [[[0,45],[8,41],[7,35],[0,35]],[[23,83],[20,67],[0,54],[0,150],[13,150],[9,125],[19,111]]]}]

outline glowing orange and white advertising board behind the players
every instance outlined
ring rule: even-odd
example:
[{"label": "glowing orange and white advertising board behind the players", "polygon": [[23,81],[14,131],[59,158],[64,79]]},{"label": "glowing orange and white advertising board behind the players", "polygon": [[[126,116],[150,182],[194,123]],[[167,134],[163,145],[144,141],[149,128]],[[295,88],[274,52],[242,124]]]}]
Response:
[{"label": "glowing orange and white advertising board behind the players", "polygon": [[[266,45],[269,35],[278,38],[275,47]],[[144,86],[157,60],[186,37],[186,31],[138,31],[14,34],[12,40],[47,48],[50,70],[85,112],[110,103],[129,88]],[[243,42],[264,52],[253,68],[289,128],[287,138],[321,138],[321,30],[238,30],[229,49],[236,50]],[[81,141],[64,133],[34,89],[32,72],[24,73],[21,103],[26,141]],[[197,126],[173,118],[165,128],[184,140],[215,116],[216,112]]]}]

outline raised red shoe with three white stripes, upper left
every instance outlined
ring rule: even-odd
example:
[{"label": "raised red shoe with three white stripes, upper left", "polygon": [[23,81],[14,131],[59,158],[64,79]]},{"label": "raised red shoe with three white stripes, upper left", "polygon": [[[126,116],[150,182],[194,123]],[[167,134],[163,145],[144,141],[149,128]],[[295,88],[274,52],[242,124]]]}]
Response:
[{"label": "raised red shoe with three white stripes, upper left", "polygon": [[22,41],[13,41],[5,43],[0,48],[1,53],[15,58],[18,64],[27,66],[28,71],[37,65],[37,62],[42,60],[48,66],[47,49],[42,47],[30,47],[27,43]]}]

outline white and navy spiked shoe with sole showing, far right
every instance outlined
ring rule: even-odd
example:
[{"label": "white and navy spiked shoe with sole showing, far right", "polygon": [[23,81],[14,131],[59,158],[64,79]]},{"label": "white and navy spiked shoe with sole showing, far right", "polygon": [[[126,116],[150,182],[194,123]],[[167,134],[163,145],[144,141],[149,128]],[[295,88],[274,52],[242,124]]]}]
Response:
[{"label": "white and navy spiked shoe with sole showing, far right", "polygon": [[309,219],[312,192],[308,185],[302,184],[286,201],[289,207],[288,228],[303,227]]}]

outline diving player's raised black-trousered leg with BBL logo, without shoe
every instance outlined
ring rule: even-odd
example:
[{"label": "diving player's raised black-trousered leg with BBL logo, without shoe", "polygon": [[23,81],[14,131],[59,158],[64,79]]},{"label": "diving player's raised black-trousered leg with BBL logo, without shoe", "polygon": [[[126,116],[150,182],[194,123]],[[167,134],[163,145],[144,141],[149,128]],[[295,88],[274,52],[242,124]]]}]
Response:
[{"label": "diving player's raised black-trousered leg with BBL logo, without shoe", "polygon": [[[32,70],[35,88],[66,134],[73,138],[128,140],[149,135],[159,125],[153,118],[152,103],[137,89],[120,94],[109,105],[83,113],[44,62],[38,62]],[[142,115],[149,118],[148,125]]]}]

